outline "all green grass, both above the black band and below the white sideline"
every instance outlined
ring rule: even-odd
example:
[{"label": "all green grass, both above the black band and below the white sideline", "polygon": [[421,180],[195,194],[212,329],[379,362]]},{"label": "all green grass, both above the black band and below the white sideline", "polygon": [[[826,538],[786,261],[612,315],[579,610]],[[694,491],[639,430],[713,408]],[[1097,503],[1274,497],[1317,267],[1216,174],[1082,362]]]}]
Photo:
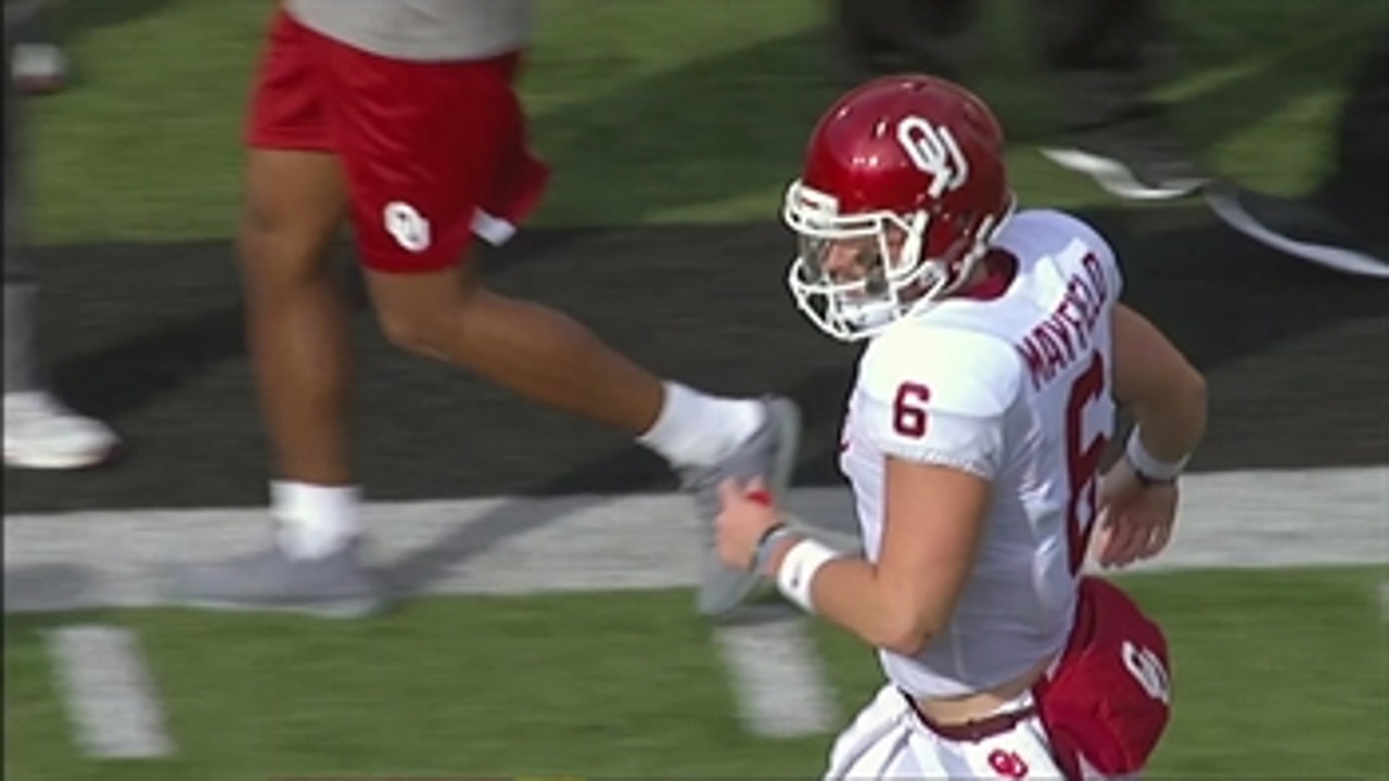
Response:
[{"label": "all green grass, both above the black band and below the white sideline", "polygon": [[[228,236],[239,128],[268,1],[69,1],[79,81],[31,104],[33,238]],[[1043,161],[1046,83],[1018,3],[992,3],[979,89],[1025,200],[1106,199]],[[1276,192],[1322,165],[1347,68],[1383,0],[1174,0],[1163,94],[1220,174]],[[768,221],[835,93],[821,0],[540,0],[524,94],[556,167],[549,225]],[[1151,777],[1389,778],[1389,568],[1125,578],[1168,628],[1178,712]],[[43,631],[136,630],[178,745],[93,762],[74,743]],[[847,720],[867,649],[817,628]],[[764,741],[736,718],[685,592],[424,599],[364,623],[172,610],[6,617],[4,777],[813,777],[829,735]]]}]

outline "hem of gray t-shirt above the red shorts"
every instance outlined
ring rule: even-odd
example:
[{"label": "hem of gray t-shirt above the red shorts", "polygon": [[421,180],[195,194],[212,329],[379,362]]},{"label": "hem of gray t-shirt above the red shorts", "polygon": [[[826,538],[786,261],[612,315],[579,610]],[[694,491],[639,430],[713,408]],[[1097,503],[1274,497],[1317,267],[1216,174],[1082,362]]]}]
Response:
[{"label": "hem of gray t-shirt above the red shorts", "polygon": [[532,0],[286,0],[304,26],[382,57],[483,60],[525,47]]}]

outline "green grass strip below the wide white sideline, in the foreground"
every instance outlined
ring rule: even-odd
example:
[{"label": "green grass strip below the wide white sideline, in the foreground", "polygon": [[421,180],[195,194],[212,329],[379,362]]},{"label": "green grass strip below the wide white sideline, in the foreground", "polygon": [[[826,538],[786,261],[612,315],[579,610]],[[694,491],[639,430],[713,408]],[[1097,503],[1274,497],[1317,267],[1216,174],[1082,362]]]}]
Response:
[{"label": "green grass strip below the wide white sideline, in the foreground", "polygon": [[[1176,714],[1150,777],[1385,778],[1385,567],[1126,577],[1167,627]],[[178,756],[71,743],[42,630],[136,630]],[[815,636],[842,720],[876,689]],[[172,610],[7,617],[6,767],[28,781],[274,775],[814,777],[829,737],[763,741],[683,592],[425,599],[375,621]],[[1376,738],[1376,735],[1379,735]]]}]

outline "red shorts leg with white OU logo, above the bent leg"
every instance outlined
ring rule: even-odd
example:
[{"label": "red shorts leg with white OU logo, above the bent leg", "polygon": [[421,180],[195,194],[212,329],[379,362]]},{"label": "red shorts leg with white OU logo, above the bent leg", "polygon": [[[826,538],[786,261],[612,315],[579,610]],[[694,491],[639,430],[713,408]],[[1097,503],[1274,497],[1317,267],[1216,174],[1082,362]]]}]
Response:
[{"label": "red shorts leg with white OU logo, above the bent leg", "polygon": [[547,171],[513,89],[519,53],[419,63],[338,44],[332,122],[363,263],[435,272],[472,236],[500,243],[538,204]]}]

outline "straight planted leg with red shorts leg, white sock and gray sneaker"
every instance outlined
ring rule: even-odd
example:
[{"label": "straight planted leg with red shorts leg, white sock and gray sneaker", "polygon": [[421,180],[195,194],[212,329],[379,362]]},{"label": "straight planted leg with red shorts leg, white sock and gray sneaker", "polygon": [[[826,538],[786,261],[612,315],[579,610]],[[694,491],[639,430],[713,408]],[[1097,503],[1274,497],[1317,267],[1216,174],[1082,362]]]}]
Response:
[{"label": "straight planted leg with red shorts leg, white sock and gray sneaker", "polygon": [[250,107],[238,240],[276,538],[249,556],[176,570],[169,588],[178,602],[328,614],[378,605],[353,545],[347,307],[326,263],[346,185],[324,68],[322,38],[278,13]]}]

